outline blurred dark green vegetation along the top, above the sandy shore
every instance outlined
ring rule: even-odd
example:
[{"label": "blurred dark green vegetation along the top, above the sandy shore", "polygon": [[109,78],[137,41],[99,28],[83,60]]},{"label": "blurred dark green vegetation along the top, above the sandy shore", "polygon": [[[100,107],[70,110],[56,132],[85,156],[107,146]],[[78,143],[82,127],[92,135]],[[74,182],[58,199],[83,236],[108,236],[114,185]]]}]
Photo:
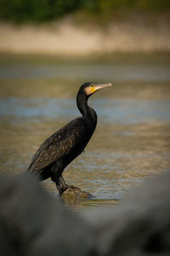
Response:
[{"label": "blurred dark green vegetation along the top, above the sandy shore", "polygon": [[0,19],[25,21],[56,20],[68,14],[111,15],[119,11],[167,12],[169,0],[0,0]]}]

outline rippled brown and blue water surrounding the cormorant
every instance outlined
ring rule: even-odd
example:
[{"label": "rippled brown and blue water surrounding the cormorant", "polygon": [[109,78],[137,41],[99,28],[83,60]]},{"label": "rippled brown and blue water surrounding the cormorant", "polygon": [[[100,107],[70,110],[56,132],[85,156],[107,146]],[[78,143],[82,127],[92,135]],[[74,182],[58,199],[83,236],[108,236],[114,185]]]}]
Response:
[{"label": "rippled brown and blue water surrounding the cormorant", "polygon": [[[156,55],[156,61],[148,61],[145,55],[138,61],[121,55],[116,60],[72,63],[3,56],[0,172],[25,172],[43,140],[80,114],[75,98],[87,80],[115,86],[89,100],[98,126],[85,154],[66,168],[67,183],[92,193],[96,207],[115,204],[145,178],[169,171],[169,58],[159,61]],[[56,190],[50,180],[43,185],[51,193]]]}]

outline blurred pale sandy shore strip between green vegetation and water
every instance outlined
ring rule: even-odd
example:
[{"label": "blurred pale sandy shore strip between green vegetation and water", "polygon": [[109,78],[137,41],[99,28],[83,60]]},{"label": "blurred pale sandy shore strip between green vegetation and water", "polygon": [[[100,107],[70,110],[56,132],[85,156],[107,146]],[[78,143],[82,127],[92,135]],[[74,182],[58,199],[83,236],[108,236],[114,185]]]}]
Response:
[{"label": "blurred pale sandy shore strip between green vegetation and water", "polygon": [[152,25],[111,22],[107,28],[78,26],[69,19],[48,25],[14,26],[0,23],[0,52],[14,54],[88,55],[105,52],[170,50],[168,22]]}]

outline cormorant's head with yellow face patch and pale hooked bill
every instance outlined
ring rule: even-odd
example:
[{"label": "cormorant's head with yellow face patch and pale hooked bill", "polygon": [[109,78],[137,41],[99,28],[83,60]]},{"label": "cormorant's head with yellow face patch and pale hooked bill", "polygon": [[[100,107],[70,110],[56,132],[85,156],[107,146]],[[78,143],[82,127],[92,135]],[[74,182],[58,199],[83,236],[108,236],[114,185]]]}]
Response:
[{"label": "cormorant's head with yellow face patch and pale hooked bill", "polygon": [[102,88],[105,88],[105,87],[108,87],[111,85],[112,85],[111,83],[97,84],[97,83],[93,83],[93,82],[88,82],[88,83],[82,84],[80,90],[82,90],[82,92],[86,96],[91,96],[97,90],[100,90]]}]

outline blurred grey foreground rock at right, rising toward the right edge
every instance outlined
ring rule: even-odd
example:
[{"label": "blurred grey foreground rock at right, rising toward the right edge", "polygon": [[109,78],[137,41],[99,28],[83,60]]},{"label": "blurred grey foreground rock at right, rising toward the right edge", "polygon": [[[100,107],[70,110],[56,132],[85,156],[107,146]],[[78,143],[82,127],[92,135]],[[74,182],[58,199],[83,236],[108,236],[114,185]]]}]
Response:
[{"label": "blurred grey foreground rock at right, rising toward the right edge", "polygon": [[170,255],[170,173],[141,183],[116,208],[84,214],[100,255]]}]

